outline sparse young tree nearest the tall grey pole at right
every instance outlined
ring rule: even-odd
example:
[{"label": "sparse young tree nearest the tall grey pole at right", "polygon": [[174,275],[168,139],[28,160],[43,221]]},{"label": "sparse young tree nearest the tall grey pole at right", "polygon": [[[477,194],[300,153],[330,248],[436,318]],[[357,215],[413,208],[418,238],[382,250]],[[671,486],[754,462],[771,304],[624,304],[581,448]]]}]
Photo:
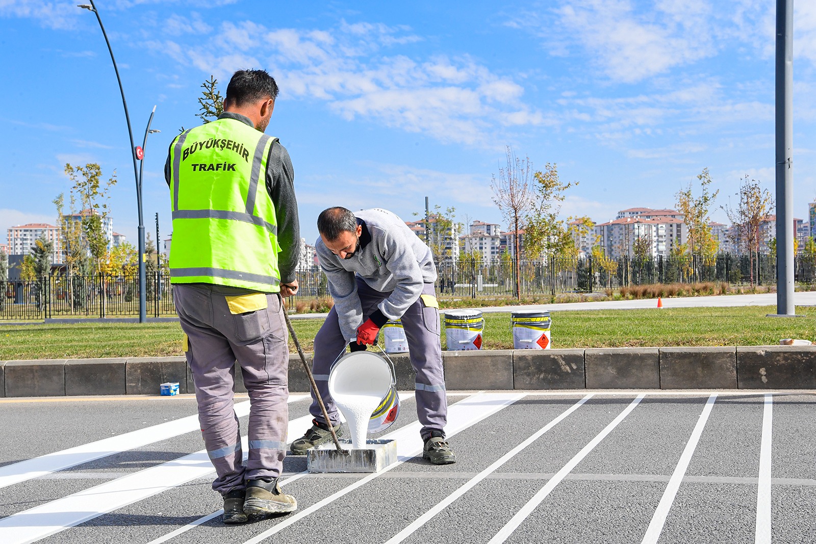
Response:
[{"label": "sparse young tree nearest the tall grey pole at right", "polygon": [[736,209],[731,206],[722,206],[734,225],[734,243],[743,245],[748,251],[748,261],[751,266],[751,286],[754,285],[754,259],[760,250],[760,225],[774,206],[774,197],[768,189],[761,188],[756,179],[748,179],[745,175],[739,186],[739,203]]}]

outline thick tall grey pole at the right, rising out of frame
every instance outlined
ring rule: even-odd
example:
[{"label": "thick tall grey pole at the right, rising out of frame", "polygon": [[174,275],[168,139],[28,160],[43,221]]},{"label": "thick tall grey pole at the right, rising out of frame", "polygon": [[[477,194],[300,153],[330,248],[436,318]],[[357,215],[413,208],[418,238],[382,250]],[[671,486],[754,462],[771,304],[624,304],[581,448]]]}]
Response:
[{"label": "thick tall grey pole at the right, rising out of frame", "polygon": [[793,304],[793,0],[776,2],[776,313]]}]

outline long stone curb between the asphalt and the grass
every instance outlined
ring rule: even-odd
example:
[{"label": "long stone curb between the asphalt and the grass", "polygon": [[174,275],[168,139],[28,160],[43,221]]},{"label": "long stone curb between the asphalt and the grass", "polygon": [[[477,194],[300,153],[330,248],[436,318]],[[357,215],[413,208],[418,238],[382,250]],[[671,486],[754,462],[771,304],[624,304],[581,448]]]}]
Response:
[{"label": "long stone curb between the asphalt and the grass", "polygon": [[[407,353],[390,355],[410,391]],[[442,352],[448,391],[547,389],[816,389],[816,346],[616,347]],[[308,356],[311,362],[311,357]],[[245,392],[236,365],[235,391]],[[192,393],[184,357],[0,360],[0,396],[156,395],[178,382]],[[289,389],[308,391],[297,354]]]}]

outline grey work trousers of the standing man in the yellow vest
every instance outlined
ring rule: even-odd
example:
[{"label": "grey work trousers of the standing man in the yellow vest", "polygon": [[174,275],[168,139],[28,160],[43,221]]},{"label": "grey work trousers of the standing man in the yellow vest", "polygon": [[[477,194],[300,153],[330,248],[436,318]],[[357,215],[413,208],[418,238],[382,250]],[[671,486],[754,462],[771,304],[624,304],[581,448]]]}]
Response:
[{"label": "grey work trousers of the standing man in the yellow vest", "polygon": [[[187,363],[198,400],[198,421],[218,478],[212,489],[226,494],[247,480],[277,478],[286,457],[289,426],[289,347],[281,298],[266,298],[255,312],[230,312],[219,285],[173,285],[175,309],[188,336]],[[234,363],[250,396],[249,455],[243,462],[241,432],[233,409]]]}]

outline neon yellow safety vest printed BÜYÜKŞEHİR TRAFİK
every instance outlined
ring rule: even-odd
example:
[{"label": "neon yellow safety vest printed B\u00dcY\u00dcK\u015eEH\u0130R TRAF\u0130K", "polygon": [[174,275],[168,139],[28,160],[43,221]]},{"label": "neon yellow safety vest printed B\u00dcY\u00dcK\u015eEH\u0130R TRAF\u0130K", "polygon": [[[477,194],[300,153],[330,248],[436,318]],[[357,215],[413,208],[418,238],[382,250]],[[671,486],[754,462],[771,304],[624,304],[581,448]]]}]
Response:
[{"label": "neon yellow safety vest printed B\u00dcY\u00dcK\u015eEH\u0130R TRAF\u0130K", "polygon": [[260,183],[274,141],[234,119],[176,138],[171,282],[279,290],[277,217]]}]

